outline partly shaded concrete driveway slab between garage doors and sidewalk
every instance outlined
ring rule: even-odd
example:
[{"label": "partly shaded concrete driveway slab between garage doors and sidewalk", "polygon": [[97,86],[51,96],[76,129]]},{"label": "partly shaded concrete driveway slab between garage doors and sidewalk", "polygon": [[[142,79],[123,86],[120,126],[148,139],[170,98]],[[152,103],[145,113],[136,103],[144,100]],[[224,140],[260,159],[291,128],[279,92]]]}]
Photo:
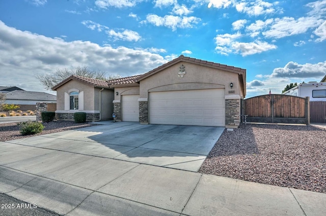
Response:
[{"label": "partly shaded concrete driveway slab between garage doors and sidewalk", "polygon": [[10,143],[198,171],[224,128],[116,122]]}]

